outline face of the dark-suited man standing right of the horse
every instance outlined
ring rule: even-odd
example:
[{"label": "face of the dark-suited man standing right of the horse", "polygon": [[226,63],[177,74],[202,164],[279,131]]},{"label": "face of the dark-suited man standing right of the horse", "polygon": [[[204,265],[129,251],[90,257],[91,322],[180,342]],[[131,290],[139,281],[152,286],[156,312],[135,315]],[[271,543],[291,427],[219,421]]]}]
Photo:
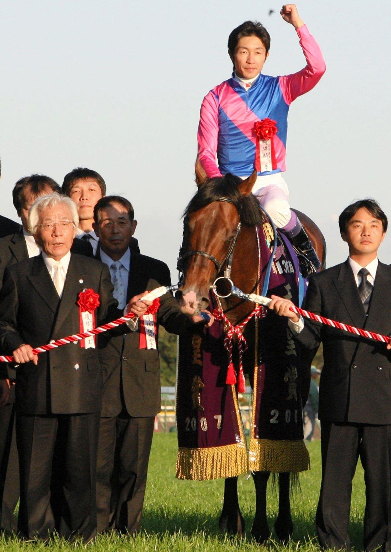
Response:
[{"label": "face of the dark-suited man standing right of the horse", "polygon": [[385,233],[382,221],[375,219],[369,211],[361,208],[351,217],[347,223],[346,232],[342,232],[341,236],[342,240],[349,245],[350,256],[356,257],[354,260],[358,262],[357,257],[365,258],[365,261],[368,261],[369,257],[376,258]]}]

